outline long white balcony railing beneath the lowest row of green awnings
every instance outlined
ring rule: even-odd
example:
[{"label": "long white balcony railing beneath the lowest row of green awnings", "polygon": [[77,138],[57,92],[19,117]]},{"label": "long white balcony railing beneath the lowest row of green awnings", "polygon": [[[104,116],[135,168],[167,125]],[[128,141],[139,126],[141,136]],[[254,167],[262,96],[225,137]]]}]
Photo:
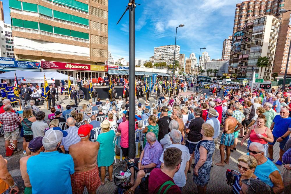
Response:
[{"label": "long white balcony railing beneath the lowest row of green awnings", "polygon": [[89,43],[89,40],[86,40],[86,39],[75,38],[72,36],[59,35],[59,34],[54,34],[54,33],[45,32],[45,31],[41,31],[41,30],[20,28],[20,27],[15,27],[15,26],[12,26],[12,30],[19,31],[19,32],[25,32],[25,33],[41,34],[41,35],[45,35],[45,36],[51,36],[54,38],[62,38],[62,39],[66,39],[66,40],[73,40],[73,41],[78,41],[78,42]]}]

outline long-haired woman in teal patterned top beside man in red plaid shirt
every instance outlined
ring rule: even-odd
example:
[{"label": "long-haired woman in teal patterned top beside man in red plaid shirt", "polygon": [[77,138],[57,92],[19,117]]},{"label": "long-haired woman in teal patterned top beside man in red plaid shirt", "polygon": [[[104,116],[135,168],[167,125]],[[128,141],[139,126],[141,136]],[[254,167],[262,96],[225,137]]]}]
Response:
[{"label": "long-haired woman in teal patterned top beside man in red plaid shirt", "polygon": [[33,139],[33,132],[31,129],[31,124],[36,121],[36,117],[33,116],[32,108],[24,108],[23,115],[21,119],[21,125],[23,127],[23,149],[26,152],[27,156],[31,154],[31,151],[28,149],[29,142]]}]

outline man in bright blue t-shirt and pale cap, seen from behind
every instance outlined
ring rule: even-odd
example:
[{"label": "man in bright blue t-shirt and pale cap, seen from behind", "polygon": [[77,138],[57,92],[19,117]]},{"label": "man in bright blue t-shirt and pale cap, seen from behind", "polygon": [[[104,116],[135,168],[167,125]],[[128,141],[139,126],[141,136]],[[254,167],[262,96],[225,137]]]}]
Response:
[{"label": "man in bright blue t-shirt and pale cap, seen from behind", "polygon": [[62,131],[47,130],[42,139],[45,152],[28,159],[26,167],[33,194],[72,193],[70,175],[75,172],[74,161],[70,154],[57,151],[62,138]]}]

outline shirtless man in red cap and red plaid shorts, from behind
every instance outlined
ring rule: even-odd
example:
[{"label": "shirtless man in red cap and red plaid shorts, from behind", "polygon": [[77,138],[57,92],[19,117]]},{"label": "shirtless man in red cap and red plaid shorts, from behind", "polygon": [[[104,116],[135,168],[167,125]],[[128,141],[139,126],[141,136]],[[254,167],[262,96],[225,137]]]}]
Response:
[{"label": "shirtless man in red cap and red plaid shorts, from behind", "polygon": [[88,193],[96,193],[101,184],[97,166],[100,144],[89,141],[91,129],[93,129],[91,124],[81,125],[78,129],[81,141],[69,147],[69,153],[75,164],[75,173],[71,175],[73,193],[83,193],[84,186]]}]

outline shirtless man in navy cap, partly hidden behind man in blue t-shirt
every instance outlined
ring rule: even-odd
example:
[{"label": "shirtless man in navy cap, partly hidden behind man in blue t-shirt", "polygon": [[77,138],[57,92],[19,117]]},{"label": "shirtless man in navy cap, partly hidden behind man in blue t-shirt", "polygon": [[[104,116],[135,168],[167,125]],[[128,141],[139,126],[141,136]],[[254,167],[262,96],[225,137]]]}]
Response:
[{"label": "shirtless man in navy cap, partly hidden behind man in blue t-shirt", "polygon": [[29,181],[29,175],[27,173],[26,163],[27,163],[27,160],[31,156],[36,156],[40,152],[45,151],[45,148],[42,146],[42,137],[33,138],[29,142],[28,149],[31,151],[31,154],[29,156],[24,156],[19,160],[21,177],[24,181],[24,186],[25,186],[24,193],[31,193],[32,192],[31,191],[32,187],[31,187],[31,184]]}]

